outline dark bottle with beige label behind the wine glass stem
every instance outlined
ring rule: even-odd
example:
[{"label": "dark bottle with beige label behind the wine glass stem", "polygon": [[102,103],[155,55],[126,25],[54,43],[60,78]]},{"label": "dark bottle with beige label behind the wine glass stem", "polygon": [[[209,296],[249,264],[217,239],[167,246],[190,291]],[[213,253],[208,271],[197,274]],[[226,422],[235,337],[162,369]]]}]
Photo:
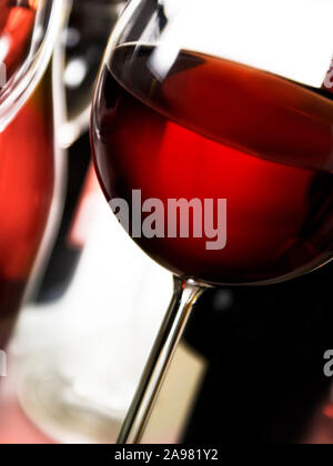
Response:
[{"label": "dark bottle with beige label behind the wine glass stem", "polygon": [[331,263],[287,283],[206,292],[143,443],[333,443],[332,378],[323,371],[332,350],[332,277]]}]

